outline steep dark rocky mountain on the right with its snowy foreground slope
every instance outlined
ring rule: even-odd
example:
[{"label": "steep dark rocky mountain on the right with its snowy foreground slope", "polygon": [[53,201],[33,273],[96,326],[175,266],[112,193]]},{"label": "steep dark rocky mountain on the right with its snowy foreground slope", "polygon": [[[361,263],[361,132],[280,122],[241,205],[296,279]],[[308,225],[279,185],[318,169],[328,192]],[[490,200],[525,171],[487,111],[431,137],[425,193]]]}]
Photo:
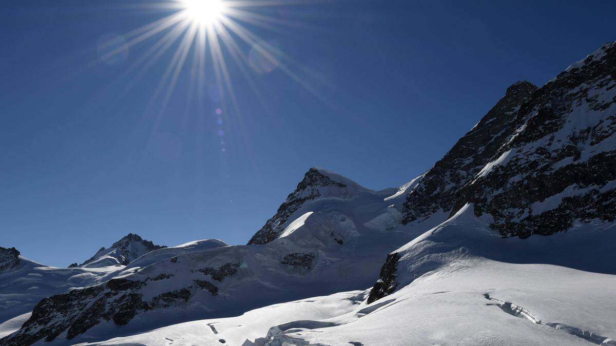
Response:
[{"label": "steep dark rocky mountain on the right with its snowy foreground slope", "polygon": [[403,187],[402,223],[449,217],[388,255],[362,305],[245,345],[616,345],[615,119],[616,42],[517,82]]}]

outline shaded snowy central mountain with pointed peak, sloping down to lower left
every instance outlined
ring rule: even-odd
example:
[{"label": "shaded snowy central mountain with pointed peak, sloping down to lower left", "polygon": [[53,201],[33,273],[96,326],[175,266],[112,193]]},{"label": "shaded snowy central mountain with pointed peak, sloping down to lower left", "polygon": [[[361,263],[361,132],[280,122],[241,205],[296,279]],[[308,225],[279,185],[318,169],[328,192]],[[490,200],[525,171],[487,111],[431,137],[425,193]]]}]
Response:
[{"label": "shaded snowy central mountain with pointed peak, sloping down to lower left", "polygon": [[383,254],[418,234],[400,224],[400,206],[390,198],[395,192],[369,190],[333,172],[310,169],[278,219],[264,227],[275,234],[260,231],[253,238],[263,239],[253,241],[258,246],[217,247],[166,259],[158,254],[170,249],[152,251],[106,283],[42,300],[23,328],[2,342],[100,339],[116,325],[150,330],[365,288],[378,275]]}]

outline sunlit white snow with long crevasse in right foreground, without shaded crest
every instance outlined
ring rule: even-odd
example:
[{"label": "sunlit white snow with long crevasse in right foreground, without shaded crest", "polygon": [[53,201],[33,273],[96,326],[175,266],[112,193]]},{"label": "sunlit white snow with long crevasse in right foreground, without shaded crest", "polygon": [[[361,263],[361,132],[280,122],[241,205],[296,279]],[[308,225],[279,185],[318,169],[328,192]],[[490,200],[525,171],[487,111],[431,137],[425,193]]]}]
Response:
[{"label": "sunlit white snow with long crevasse in right foreground, without shaded crest", "polygon": [[553,265],[459,262],[377,300],[370,309],[362,304],[317,320],[331,327],[279,334],[270,345],[588,345],[580,337],[513,316],[485,294],[524,308],[542,323],[614,339],[616,302],[606,297],[613,296],[615,284],[613,275]]}]

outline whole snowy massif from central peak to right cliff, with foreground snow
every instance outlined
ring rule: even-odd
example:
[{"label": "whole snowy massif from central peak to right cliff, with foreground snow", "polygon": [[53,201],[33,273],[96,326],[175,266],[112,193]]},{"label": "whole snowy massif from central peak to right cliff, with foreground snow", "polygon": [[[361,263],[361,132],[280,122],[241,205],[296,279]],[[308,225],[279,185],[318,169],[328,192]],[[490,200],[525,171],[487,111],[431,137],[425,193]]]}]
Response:
[{"label": "whole snowy massif from central peak to right cliff, with foreground snow", "polygon": [[247,245],[148,252],[0,345],[614,345],[615,121],[616,42],[397,189],[312,168]]}]

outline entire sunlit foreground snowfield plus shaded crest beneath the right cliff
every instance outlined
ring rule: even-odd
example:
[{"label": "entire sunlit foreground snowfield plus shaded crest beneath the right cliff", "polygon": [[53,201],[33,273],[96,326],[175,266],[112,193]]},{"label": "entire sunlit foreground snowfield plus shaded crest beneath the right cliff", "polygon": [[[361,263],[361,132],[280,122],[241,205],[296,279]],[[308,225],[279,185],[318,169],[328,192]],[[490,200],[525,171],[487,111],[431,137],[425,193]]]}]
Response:
[{"label": "entire sunlit foreground snowfield plus shaded crest beneath the right cliff", "polygon": [[[399,268],[408,273],[402,288],[372,304],[370,289],[344,292],[95,344],[616,345],[616,275],[550,264],[609,249],[612,228],[594,230],[594,239],[588,227],[551,236],[552,248],[537,237],[528,250],[527,240],[495,236],[470,209],[397,250],[399,267],[409,265]],[[572,243],[580,248],[569,254]],[[495,254],[500,260],[487,258]],[[603,255],[609,262],[598,268],[613,272],[616,255]]]}]

